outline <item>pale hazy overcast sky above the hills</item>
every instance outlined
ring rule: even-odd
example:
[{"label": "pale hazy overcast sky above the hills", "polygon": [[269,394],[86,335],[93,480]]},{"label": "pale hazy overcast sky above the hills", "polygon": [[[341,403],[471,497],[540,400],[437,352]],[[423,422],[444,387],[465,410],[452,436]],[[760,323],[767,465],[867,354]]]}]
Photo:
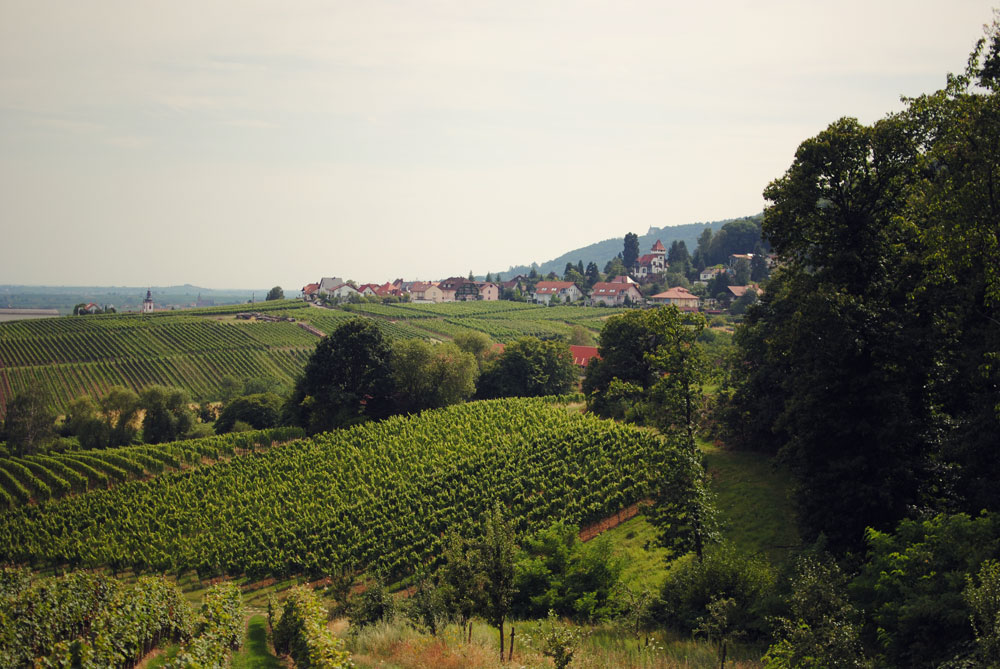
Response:
[{"label": "pale hazy overcast sky above the hills", "polygon": [[0,0],[0,283],[287,293],[753,214],[991,1]]}]

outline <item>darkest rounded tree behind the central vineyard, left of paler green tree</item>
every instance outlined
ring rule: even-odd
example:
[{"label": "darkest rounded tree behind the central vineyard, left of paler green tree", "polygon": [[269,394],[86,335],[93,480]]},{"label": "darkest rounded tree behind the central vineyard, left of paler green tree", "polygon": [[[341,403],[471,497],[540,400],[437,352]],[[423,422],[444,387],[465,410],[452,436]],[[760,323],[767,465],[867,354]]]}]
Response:
[{"label": "darkest rounded tree behind the central vineyard, left of paler green tree", "polygon": [[286,403],[285,420],[315,433],[389,415],[391,354],[374,321],[338,325],[316,345]]}]

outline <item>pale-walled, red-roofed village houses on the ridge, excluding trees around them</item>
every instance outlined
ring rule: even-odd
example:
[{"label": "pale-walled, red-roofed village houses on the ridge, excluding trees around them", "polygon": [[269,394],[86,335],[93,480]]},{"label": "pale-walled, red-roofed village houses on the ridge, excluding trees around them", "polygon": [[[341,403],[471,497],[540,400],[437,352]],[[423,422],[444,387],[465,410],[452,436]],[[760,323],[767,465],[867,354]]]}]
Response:
[{"label": "pale-walled, red-roofed village houses on the ridge, excluding trees around them", "polygon": [[[739,258],[749,258],[748,255],[733,256],[730,265],[735,265]],[[657,240],[646,255],[640,256],[633,273],[642,277],[659,275],[666,272],[666,249]],[[713,267],[701,273],[701,281],[711,280],[719,272],[731,271],[730,268]],[[740,297],[749,288],[756,286],[730,286],[734,297]],[[409,296],[413,302],[463,302],[470,300],[499,300],[504,291],[519,291],[527,299],[538,304],[549,305],[553,302],[569,304],[587,300],[591,305],[609,307],[642,304],[643,296],[638,283],[630,276],[616,276],[608,281],[595,283],[590,294],[584,294],[580,287],[572,281],[538,281],[532,285],[524,276],[518,275],[510,281],[476,281],[460,276],[443,281],[403,281],[396,279],[392,283],[377,285],[365,283],[357,285],[344,281],[339,277],[323,278],[319,283],[310,283],[302,288],[305,299],[315,301],[322,297],[337,300],[349,300],[358,297],[403,297]],[[699,298],[685,288],[676,287],[653,295],[646,300],[652,304],[673,304],[684,310],[697,310]]]}]

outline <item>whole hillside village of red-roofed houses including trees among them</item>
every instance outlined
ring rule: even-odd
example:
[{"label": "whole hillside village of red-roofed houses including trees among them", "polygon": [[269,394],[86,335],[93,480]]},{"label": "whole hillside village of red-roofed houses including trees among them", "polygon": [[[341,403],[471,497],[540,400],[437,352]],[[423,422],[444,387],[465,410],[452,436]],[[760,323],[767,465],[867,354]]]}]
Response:
[{"label": "whole hillside village of red-roofed houses including trees among them", "polygon": [[[616,265],[617,262],[617,265]],[[316,304],[341,304],[365,300],[380,302],[441,303],[476,300],[512,300],[551,305],[594,307],[642,307],[674,305],[683,311],[742,313],[762,294],[761,285],[748,280],[751,267],[761,265],[766,271],[773,257],[762,256],[755,262],[752,253],[732,254],[726,264],[706,267],[688,281],[684,274],[671,274],[667,250],[659,240],[649,253],[638,257],[628,268],[620,258],[608,263],[608,276],[602,276],[590,263],[585,271],[582,262],[567,264],[564,276],[555,272],[539,276],[532,272],[509,280],[487,274],[482,280],[471,273],[440,281],[405,281],[396,279],[384,284],[362,283],[340,277],[323,277],[302,288],[301,297]],[[624,270],[624,271],[622,271]],[[666,284],[678,285],[667,287]],[[687,288],[684,283],[690,283]],[[666,288],[665,290],[660,290]]]}]

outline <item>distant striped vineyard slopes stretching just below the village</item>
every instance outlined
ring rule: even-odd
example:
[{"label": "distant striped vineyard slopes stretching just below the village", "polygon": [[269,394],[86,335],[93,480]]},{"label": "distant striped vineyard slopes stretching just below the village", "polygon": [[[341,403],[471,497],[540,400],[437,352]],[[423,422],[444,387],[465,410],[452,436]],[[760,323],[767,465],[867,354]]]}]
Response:
[{"label": "distant striped vineyard slopes stretching just below the village", "polygon": [[[235,317],[247,310],[294,322]],[[176,386],[195,401],[218,399],[219,382],[226,375],[271,378],[290,386],[316,345],[316,333],[329,333],[359,316],[374,319],[391,339],[445,340],[477,331],[506,343],[527,335],[566,338],[575,325],[598,333],[604,319],[620,311],[519,302],[322,309],[283,300],[252,307],[0,323],[0,418],[7,400],[29,386],[45,388],[59,411],[81,395],[101,396],[112,386],[136,391],[154,384]]]}]

